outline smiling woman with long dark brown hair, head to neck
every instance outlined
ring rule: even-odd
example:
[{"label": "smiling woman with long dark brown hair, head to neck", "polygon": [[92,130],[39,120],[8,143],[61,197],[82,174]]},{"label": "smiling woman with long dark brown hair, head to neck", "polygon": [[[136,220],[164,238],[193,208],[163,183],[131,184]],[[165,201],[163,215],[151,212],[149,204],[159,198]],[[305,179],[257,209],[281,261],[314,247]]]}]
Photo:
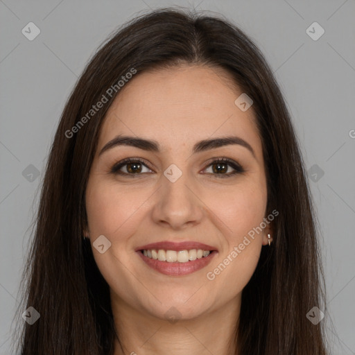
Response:
[{"label": "smiling woman with long dark brown hair, head to neck", "polygon": [[302,156],[239,28],[162,9],[101,47],[53,141],[27,270],[24,355],[326,354]]}]

